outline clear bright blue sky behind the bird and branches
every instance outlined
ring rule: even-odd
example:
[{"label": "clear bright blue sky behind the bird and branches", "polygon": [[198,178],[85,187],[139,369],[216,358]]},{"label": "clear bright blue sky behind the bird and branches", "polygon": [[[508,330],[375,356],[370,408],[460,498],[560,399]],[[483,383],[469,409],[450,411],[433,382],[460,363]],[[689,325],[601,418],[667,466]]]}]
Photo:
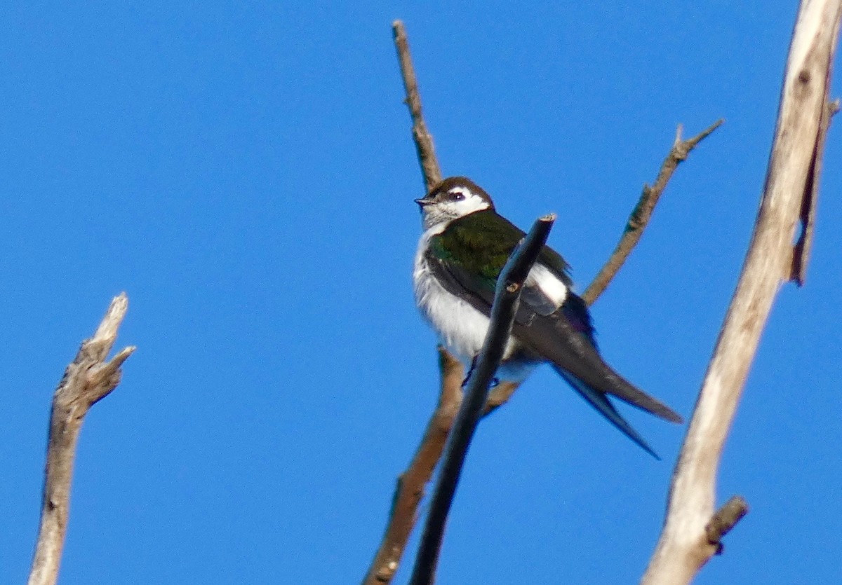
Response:
[{"label": "clear bright blue sky behind the bird and branches", "polygon": [[[61,582],[358,582],[434,405],[410,272],[423,194],[390,24],[445,175],[580,287],[677,123],[679,168],[594,305],[606,359],[691,413],[754,222],[795,3],[7,3],[0,14],[0,571],[22,582],[51,393],[120,291],[124,382],[86,419]],[[839,84],[834,85],[839,93]],[[838,121],[837,121],[838,122]],[[775,303],[722,460],[749,516],[698,583],[839,582],[842,188]],[[481,425],[440,582],[627,583],[654,461],[548,368]],[[396,582],[405,582],[411,561]]]}]

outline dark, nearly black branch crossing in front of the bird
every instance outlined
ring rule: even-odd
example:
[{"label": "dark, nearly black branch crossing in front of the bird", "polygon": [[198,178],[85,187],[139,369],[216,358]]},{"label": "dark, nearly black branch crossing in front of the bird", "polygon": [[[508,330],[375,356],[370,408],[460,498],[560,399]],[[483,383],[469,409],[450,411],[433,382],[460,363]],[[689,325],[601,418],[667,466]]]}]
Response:
[{"label": "dark, nearly black branch crossing in front of the bird", "polygon": [[521,245],[509,256],[509,261],[506,262],[497,279],[488,333],[477,357],[476,365],[472,368],[465,399],[456,414],[453,429],[445,446],[444,461],[430,501],[429,514],[427,514],[424,534],[421,536],[421,544],[418,547],[413,576],[409,581],[412,585],[428,585],[433,582],[441,541],[445,535],[447,514],[456,493],[456,484],[459,482],[468,446],[488,398],[488,387],[494,372],[497,372],[500,361],[503,360],[523,283],[538,259],[538,254],[544,247],[555,220],[555,214],[536,220]]}]

